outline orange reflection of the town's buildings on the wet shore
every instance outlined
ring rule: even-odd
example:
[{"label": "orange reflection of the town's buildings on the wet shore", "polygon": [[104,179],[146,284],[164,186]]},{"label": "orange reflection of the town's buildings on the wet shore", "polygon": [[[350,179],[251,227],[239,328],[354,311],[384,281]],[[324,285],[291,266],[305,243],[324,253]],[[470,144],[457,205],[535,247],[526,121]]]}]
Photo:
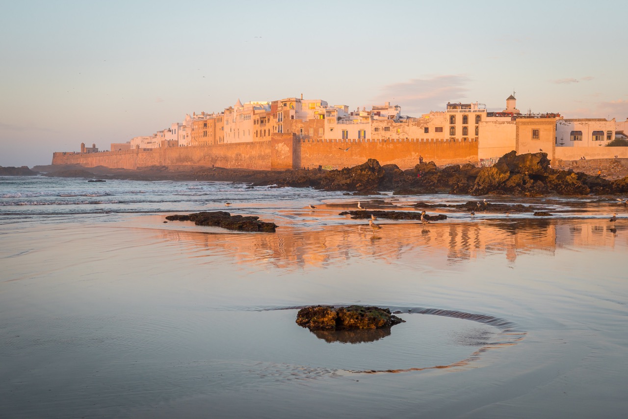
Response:
[{"label": "orange reflection of the town's buildings on the wet shore", "polygon": [[353,258],[377,258],[384,263],[433,258],[456,264],[504,254],[514,262],[518,255],[553,254],[566,246],[614,248],[619,238],[624,245],[628,243],[628,226],[618,223],[613,232],[605,219],[382,224],[384,228],[375,234],[364,224],[323,230],[281,228],[274,234],[163,230],[163,237],[190,242],[194,255],[231,257],[237,263],[268,263],[282,269],[325,267]]}]

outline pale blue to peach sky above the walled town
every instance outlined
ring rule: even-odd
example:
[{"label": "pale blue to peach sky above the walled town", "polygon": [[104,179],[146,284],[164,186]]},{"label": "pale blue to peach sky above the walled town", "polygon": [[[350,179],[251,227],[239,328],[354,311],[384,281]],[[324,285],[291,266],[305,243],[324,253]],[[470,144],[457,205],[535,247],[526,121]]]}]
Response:
[{"label": "pale blue to peach sky above the walled town", "polygon": [[3,1],[0,165],[109,150],[238,99],[628,118],[619,1]]}]

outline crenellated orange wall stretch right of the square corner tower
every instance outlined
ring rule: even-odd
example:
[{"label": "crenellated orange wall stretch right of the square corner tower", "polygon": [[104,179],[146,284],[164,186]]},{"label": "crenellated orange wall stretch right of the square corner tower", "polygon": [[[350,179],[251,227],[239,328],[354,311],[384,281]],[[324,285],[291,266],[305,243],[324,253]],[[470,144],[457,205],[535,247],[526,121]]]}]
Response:
[{"label": "crenellated orange wall stretch right of the square corner tower", "polygon": [[[437,165],[477,163],[477,141],[438,141],[430,138],[409,138],[408,140],[336,140],[335,142],[297,142],[300,162],[296,167],[315,169],[322,165],[325,169],[342,169],[376,159],[380,164],[396,164],[400,169],[411,169],[423,156],[425,162]],[[368,142],[367,142],[368,141]],[[344,151],[349,148],[349,150]]]}]

